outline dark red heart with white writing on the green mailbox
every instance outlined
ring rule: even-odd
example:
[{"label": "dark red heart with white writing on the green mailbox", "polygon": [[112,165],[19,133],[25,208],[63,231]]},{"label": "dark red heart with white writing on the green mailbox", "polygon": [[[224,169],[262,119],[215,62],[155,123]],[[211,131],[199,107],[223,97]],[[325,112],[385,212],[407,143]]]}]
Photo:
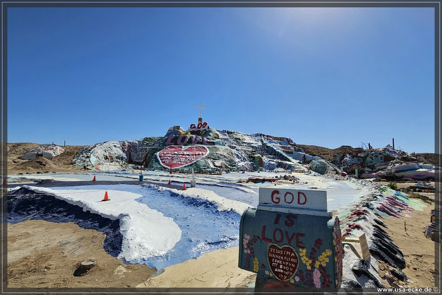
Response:
[{"label": "dark red heart with white writing on the green mailbox", "polygon": [[267,260],[273,274],[281,281],[290,280],[298,269],[298,254],[290,246],[270,244],[267,249]]}]

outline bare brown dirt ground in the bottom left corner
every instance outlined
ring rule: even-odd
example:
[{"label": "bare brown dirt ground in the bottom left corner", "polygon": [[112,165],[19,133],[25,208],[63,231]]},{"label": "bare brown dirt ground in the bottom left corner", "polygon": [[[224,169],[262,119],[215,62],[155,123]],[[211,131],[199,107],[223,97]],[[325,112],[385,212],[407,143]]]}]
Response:
[{"label": "bare brown dirt ground in the bottom left corner", "polygon": [[[74,222],[26,220],[8,224],[8,287],[129,288],[145,282],[155,269],[124,264],[103,248],[106,235]],[[63,242],[60,242],[63,241]],[[95,266],[83,276],[74,272],[82,261]]]}]

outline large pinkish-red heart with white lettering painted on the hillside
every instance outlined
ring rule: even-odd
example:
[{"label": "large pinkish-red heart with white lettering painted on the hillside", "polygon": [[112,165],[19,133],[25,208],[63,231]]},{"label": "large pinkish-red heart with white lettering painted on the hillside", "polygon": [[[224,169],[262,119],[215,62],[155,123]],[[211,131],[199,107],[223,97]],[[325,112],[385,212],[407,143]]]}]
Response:
[{"label": "large pinkish-red heart with white lettering painted on the hillside", "polygon": [[195,163],[209,154],[209,149],[203,146],[168,146],[157,153],[158,161],[166,168],[181,168]]}]

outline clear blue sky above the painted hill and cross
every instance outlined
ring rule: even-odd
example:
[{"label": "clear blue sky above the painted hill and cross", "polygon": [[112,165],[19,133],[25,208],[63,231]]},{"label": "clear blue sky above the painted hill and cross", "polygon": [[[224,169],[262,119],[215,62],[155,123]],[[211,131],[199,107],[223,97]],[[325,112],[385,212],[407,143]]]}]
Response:
[{"label": "clear blue sky above the painted hill and cross", "polygon": [[216,129],[434,152],[434,8],[8,8],[8,142]]}]

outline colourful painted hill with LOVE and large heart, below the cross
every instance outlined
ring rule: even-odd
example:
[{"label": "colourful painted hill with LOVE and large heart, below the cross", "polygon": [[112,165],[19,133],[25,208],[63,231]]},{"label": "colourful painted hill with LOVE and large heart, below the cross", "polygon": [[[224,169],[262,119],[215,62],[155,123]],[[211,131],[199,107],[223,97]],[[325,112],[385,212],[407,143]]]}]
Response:
[{"label": "colourful painted hill with LOVE and large heart, below the cross", "polygon": [[301,162],[320,159],[297,148],[290,138],[218,130],[206,122],[187,130],[170,127],[164,137],[109,141],[81,150],[74,158],[79,169],[114,170],[134,163],[149,169],[216,172],[304,170]]}]

